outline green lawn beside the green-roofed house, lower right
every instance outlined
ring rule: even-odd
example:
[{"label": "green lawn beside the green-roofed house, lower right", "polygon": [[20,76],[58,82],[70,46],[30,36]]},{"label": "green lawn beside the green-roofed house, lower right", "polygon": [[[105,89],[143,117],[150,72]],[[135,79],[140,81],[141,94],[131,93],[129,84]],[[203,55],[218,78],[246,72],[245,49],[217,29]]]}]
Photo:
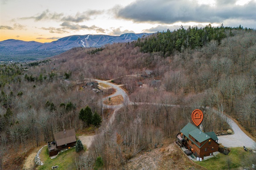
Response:
[{"label": "green lawn beside the green-roofed house, lower right", "polygon": [[243,165],[251,166],[247,158],[253,156],[253,153],[244,151],[242,147],[233,147],[228,155],[219,153],[216,157],[205,161],[195,161],[209,170],[223,170],[242,167]]}]

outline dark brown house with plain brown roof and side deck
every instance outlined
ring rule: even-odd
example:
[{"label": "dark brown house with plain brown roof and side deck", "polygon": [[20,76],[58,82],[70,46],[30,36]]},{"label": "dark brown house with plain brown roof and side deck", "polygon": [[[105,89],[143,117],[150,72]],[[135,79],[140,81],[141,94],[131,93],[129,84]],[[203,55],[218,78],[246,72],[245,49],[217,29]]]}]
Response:
[{"label": "dark brown house with plain brown roof and side deck", "polygon": [[54,133],[54,139],[55,141],[48,142],[49,156],[55,156],[60,150],[64,150],[76,145],[75,129]]}]

